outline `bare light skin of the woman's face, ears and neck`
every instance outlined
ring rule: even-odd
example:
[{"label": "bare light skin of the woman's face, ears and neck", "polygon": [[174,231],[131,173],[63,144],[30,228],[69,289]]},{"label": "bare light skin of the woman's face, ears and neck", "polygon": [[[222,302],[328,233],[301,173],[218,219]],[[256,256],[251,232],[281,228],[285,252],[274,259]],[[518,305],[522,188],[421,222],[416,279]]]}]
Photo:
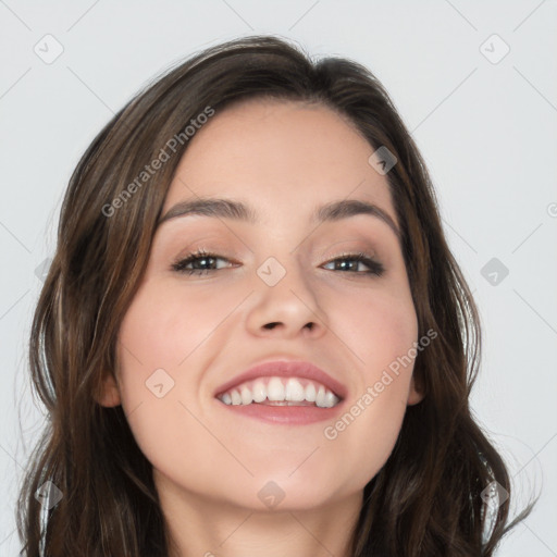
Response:
[{"label": "bare light skin of the woman's face, ears and neck", "polygon": [[[310,223],[314,207],[350,198],[375,203],[398,225],[386,176],[368,163],[373,150],[323,106],[269,100],[216,113],[190,140],[162,214],[198,196],[228,197],[250,203],[261,222],[189,215],[158,228],[120,330],[116,382],[107,380],[100,400],[122,404],[153,466],[173,555],[349,555],[362,490],[387,460],[407,406],[421,400],[413,363],[333,441],[323,434],[331,421],[269,424],[212,395],[261,359],[284,355],[341,381],[348,409],[418,341],[389,226],[367,214]],[[196,248],[225,258],[219,270],[171,269]],[[359,251],[385,273],[330,263]],[[286,270],[273,287],[257,274],[271,256]],[[161,368],[174,387],[158,398],[145,383]],[[270,481],[284,494],[273,508],[258,497]]]}]

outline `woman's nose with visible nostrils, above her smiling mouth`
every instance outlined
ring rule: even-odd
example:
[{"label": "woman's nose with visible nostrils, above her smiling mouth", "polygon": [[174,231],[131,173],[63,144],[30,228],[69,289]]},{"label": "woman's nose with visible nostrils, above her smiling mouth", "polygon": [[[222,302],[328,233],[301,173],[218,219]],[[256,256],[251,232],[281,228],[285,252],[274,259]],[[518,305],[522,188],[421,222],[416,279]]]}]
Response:
[{"label": "woman's nose with visible nostrils, above her smiling mouth", "polygon": [[281,338],[294,338],[300,334],[315,338],[322,336],[329,327],[327,318],[304,270],[296,262],[283,267],[274,260],[272,265],[273,272],[280,268],[285,274],[274,285],[265,282],[263,273],[258,274],[256,292],[250,297],[252,306],[247,318],[248,330],[253,335]]}]

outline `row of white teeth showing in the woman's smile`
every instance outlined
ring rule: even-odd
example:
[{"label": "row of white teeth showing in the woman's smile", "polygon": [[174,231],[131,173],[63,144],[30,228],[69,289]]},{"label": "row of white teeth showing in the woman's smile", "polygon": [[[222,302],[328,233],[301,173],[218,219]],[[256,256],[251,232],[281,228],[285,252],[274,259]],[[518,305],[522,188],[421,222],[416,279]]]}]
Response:
[{"label": "row of white teeth showing in the woman's smile", "polygon": [[314,403],[320,408],[332,408],[339,403],[339,398],[325,388],[324,385],[308,381],[304,386],[302,381],[306,382],[307,380],[300,381],[297,377],[258,379],[223,393],[219,398],[225,405],[234,406],[248,406],[252,403],[261,404],[268,400],[290,403],[284,406],[301,406],[295,403],[307,401]]}]

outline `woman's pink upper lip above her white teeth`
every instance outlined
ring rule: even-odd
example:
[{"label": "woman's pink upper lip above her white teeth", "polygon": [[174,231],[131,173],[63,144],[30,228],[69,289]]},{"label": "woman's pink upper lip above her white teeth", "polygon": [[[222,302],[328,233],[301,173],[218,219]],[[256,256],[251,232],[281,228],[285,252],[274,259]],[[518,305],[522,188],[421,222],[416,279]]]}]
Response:
[{"label": "woman's pink upper lip above her white teeth", "polygon": [[273,360],[258,363],[220,385],[214,396],[225,393],[246,381],[257,377],[300,377],[313,380],[332,391],[341,400],[346,398],[346,387],[315,364],[304,360]]}]

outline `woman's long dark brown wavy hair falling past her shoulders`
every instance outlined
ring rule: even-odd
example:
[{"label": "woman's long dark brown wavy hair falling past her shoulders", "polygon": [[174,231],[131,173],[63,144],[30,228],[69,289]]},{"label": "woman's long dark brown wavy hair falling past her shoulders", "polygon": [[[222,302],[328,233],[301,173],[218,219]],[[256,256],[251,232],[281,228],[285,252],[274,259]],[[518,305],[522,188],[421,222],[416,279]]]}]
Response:
[{"label": "woman's long dark brown wavy hair falling past her shoulders", "polygon": [[[482,543],[484,490],[493,481],[509,494],[511,487],[469,407],[480,362],[479,315],[444,237],[423,159],[387,92],[358,63],[312,61],[280,38],[252,36],[199,52],[159,76],[104,126],[70,180],[32,324],[32,381],[48,425],[20,494],[22,555],[168,557],[152,467],[122,407],[102,407],[95,394],[116,369],[119,326],[187,149],[186,126],[200,114],[262,97],[331,108],[371,147],[395,154],[386,177],[419,333],[438,334],[414,362],[424,398],[408,407],[393,453],[364,487],[354,555],[491,556],[530,511],[508,524],[510,499],[503,497]],[[146,177],[146,165],[163,150],[168,160]],[[60,491],[50,492],[55,505],[35,496],[45,485]]]}]

